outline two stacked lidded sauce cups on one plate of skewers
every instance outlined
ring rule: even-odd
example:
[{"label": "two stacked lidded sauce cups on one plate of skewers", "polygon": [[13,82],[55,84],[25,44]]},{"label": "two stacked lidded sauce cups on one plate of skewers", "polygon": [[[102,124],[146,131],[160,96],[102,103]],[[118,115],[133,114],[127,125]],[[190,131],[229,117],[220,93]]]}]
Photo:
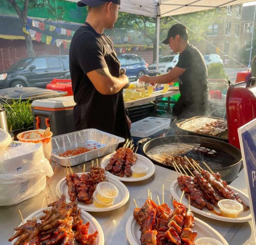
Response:
[{"label": "two stacked lidded sauce cups on one plate of skewers", "polygon": [[118,189],[115,185],[108,182],[100,182],[96,186],[96,198],[103,204],[113,204],[118,196]]}]

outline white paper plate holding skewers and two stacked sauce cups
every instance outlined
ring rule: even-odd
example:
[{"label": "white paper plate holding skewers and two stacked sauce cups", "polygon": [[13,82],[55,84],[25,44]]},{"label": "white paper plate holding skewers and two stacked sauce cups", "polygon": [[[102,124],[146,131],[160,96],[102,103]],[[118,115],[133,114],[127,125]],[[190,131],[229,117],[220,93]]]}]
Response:
[{"label": "white paper plate holding skewers and two stacked sauce cups", "polygon": [[[83,173],[77,173],[80,177]],[[114,184],[118,189],[118,196],[114,201],[114,204],[110,207],[95,207],[94,204],[84,204],[83,202],[77,202],[77,206],[83,210],[91,211],[91,212],[103,212],[110,211],[113,209],[117,209],[123,205],[125,205],[129,199],[129,190],[127,187],[121,183],[119,180],[111,178],[107,176],[108,182]],[[66,177],[61,179],[56,185],[56,194],[58,197],[61,197],[62,194],[66,196],[66,203],[70,203],[70,199],[68,196],[68,187],[66,184]]]}]

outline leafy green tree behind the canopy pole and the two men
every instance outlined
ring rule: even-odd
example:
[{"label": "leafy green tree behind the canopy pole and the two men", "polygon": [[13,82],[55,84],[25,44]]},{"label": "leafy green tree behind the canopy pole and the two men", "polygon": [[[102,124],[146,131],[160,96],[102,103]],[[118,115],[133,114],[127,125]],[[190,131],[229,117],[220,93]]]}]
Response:
[{"label": "leafy green tree behind the canopy pole and the two men", "polygon": [[[169,28],[177,23],[177,21],[184,24],[188,29],[189,40],[200,41],[201,37],[207,35],[208,26],[212,23],[219,23],[221,21],[220,15],[222,11],[217,9],[194,12],[189,14],[182,14],[174,16],[173,18],[164,17],[160,19],[160,41],[167,36]],[[156,60],[156,25],[157,19],[153,17],[141,16],[137,14],[130,14],[119,12],[119,17],[115,24],[115,28],[128,28],[139,31],[144,37],[149,38],[153,42],[153,60]],[[196,34],[195,34],[196,33]]]}]

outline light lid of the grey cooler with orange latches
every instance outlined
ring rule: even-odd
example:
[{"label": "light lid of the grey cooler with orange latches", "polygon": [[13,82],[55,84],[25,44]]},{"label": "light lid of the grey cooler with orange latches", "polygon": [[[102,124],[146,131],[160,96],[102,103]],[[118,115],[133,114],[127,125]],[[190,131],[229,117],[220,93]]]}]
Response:
[{"label": "light lid of the grey cooler with orange latches", "polygon": [[75,101],[74,96],[65,96],[49,99],[39,99],[32,102],[32,107],[42,107],[42,108],[67,108],[74,107]]}]

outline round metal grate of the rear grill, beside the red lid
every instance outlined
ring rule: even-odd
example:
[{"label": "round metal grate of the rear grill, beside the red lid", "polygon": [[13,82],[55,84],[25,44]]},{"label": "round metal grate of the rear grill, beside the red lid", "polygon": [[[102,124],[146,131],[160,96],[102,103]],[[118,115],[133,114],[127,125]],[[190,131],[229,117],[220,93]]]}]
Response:
[{"label": "round metal grate of the rear grill, beside the red lid", "polygon": [[[191,120],[189,119],[184,122],[181,122],[180,124],[177,125],[177,127],[183,130],[193,132],[195,134],[205,135],[203,133],[196,132],[196,130],[200,129],[201,127],[205,127],[205,124],[216,122],[217,120],[227,125],[226,119],[214,118],[214,117],[196,117],[196,118],[191,118]],[[215,137],[223,137],[223,138],[227,137],[227,129],[224,132],[217,134]]]}]

